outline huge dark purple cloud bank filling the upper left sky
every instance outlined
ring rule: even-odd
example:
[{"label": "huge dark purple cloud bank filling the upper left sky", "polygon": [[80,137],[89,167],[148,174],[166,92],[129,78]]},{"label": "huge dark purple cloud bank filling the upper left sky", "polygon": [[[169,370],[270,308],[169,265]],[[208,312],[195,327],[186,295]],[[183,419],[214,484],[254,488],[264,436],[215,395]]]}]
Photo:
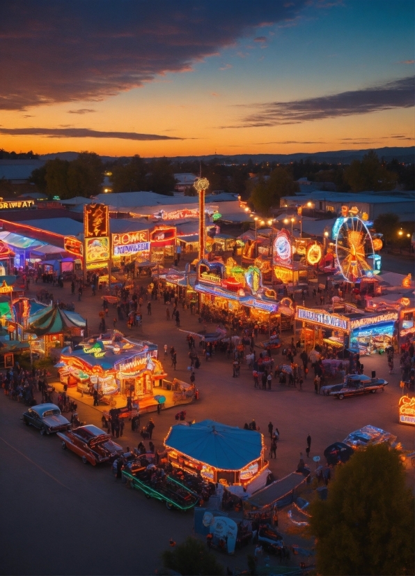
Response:
[{"label": "huge dark purple cloud bank filling the upper left sky", "polygon": [[95,102],[191,70],[307,0],[13,0],[1,4],[0,109]]}]

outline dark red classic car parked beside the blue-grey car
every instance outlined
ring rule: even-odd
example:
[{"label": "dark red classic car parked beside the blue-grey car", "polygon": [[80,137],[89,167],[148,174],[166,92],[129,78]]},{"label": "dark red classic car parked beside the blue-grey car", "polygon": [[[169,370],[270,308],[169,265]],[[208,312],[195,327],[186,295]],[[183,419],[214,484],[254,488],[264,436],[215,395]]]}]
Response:
[{"label": "dark red classic car parked beside the blue-grey car", "polygon": [[62,448],[72,450],[81,456],[82,462],[90,462],[93,466],[100,462],[111,462],[123,454],[123,448],[111,440],[111,436],[97,426],[88,424],[79,426],[68,432],[59,432]]}]

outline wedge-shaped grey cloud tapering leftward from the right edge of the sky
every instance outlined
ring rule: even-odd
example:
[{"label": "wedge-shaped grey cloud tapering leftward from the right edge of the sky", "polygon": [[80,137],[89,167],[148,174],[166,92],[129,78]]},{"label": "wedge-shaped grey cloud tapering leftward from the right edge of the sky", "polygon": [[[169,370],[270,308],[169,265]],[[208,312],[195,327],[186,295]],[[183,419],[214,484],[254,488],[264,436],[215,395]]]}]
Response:
[{"label": "wedge-shaped grey cloud tapering leftward from the right edge of the sky", "polygon": [[407,77],[331,96],[253,105],[257,108],[256,112],[245,116],[240,126],[227,128],[299,124],[309,120],[409,108],[414,106],[414,84],[414,77]]}]

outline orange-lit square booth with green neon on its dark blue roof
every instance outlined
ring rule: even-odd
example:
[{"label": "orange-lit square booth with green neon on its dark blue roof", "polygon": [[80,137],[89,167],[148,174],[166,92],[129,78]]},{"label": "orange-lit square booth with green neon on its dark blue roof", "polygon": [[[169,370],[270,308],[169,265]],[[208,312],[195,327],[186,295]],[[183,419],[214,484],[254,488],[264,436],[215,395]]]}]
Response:
[{"label": "orange-lit square booth with green neon on its dark blue roof", "polygon": [[[157,360],[157,345],[127,339],[113,331],[63,349],[61,382],[91,393],[123,394],[133,399],[152,400],[154,386],[162,386],[164,373]],[[157,404],[157,401],[155,401]]]}]

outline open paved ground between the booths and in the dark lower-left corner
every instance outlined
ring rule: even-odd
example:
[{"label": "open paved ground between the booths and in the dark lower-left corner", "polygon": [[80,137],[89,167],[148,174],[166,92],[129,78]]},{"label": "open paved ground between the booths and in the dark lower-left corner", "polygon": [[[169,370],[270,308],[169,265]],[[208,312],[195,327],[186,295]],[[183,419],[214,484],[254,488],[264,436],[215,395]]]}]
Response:
[{"label": "open paved ground between the booths and in the dark lower-left corner", "polygon": [[[55,292],[64,301],[72,299],[68,285]],[[89,291],[76,302],[77,312],[88,317],[92,329],[99,323],[101,302]],[[201,329],[189,311],[180,315],[183,329]],[[117,327],[127,333],[126,327]],[[144,314],[143,326],[131,333],[156,342],[159,349],[173,344],[178,365],[173,372],[170,362],[165,363],[169,377],[189,378],[185,334],[166,321],[164,304],[153,302],[152,316]],[[295,469],[308,433],[311,457],[322,456],[332,441],[366,424],[393,432],[405,447],[414,449],[412,428],[398,424],[399,375],[389,376],[385,356],[364,358],[363,363],[366,374],[376,370],[390,386],[384,393],[338,401],[315,395],[311,376],[302,392],[276,383],[271,391],[256,390],[246,367],[240,378],[233,378],[231,362],[218,353],[210,362],[203,360],[196,371],[201,400],[187,407],[187,419],[213,418],[243,426],[255,418],[263,432],[272,420],[281,433],[277,459],[270,464],[277,478]],[[180,542],[191,533],[191,513],[169,512],[162,503],[117,485],[107,467],[85,466],[62,450],[56,437],[41,437],[25,427],[19,420],[22,411],[24,407],[0,395],[0,506],[6,519],[1,524],[1,574],[149,574],[159,566],[159,553],[170,537]],[[172,409],[153,415],[156,447],[175,423],[174,414]],[[79,415],[100,425],[100,412],[93,407],[79,404]],[[143,416],[142,423],[148,418]],[[139,434],[125,430],[120,444],[134,446],[140,440]],[[243,566],[246,551],[241,554]]]}]

